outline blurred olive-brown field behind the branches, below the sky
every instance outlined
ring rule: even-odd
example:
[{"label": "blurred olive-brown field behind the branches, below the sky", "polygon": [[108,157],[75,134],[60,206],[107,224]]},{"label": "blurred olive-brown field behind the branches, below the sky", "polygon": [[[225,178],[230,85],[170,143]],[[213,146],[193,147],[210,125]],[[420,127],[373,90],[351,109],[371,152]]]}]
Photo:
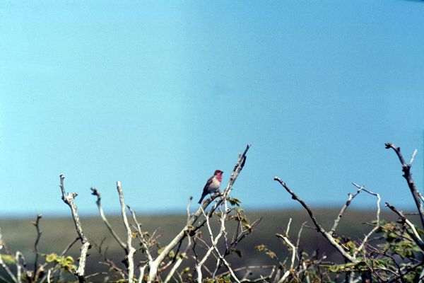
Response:
[{"label": "blurred olive-brown field behind the branches, below the sky", "polygon": [[[338,209],[321,208],[314,209],[314,212],[317,214],[317,218],[322,225],[326,229],[329,229],[338,214]],[[254,250],[254,246],[261,243],[264,243],[271,250],[275,251],[278,257],[283,258],[287,254],[287,250],[281,244],[281,241],[276,238],[275,233],[282,233],[284,231],[290,217],[293,218],[290,228],[290,237],[293,239],[297,238],[300,224],[303,221],[308,221],[308,224],[312,226],[307,213],[301,209],[257,211],[249,213],[248,216],[252,221],[259,217],[263,217],[263,220],[259,224],[257,231],[254,231],[251,236],[240,243],[239,248],[242,251],[243,257],[241,259],[233,258],[235,266],[271,263],[270,258]],[[390,212],[383,212],[382,218],[395,220],[396,216]],[[124,226],[120,216],[109,216],[108,219],[119,235],[125,238]],[[348,210],[339,225],[338,234],[349,236],[352,239],[362,237],[370,229],[370,226],[363,223],[372,221],[373,219],[375,219],[375,211]],[[184,214],[141,215],[139,216],[139,220],[143,224],[144,230],[154,231],[158,229],[158,232],[162,235],[160,242],[167,243],[184,226],[186,216]],[[7,247],[13,252],[16,250],[23,252],[28,262],[33,260],[33,244],[35,241],[35,228],[33,224],[30,224],[31,221],[33,219],[0,219],[1,233]],[[108,247],[109,257],[113,258],[116,262],[120,262],[124,257],[124,253],[114,243],[100,217],[83,218],[81,221],[86,235],[90,238],[90,242],[100,243],[105,239],[103,246]],[[77,236],[71,217],[43,218],[40,221],[40,226],[42,229],[42,237],[39,245],[41,253],[61,253],[61,250]],[[231,227],[228,230],[231,231]],[[78,257],[80,246],[77,243],[69,253]],[[312,252],[315,248],[319,248],[319,252],[326,253],[329,260],[340,260],[335,250],[329,247],[322,236],[312,229],[304,229],[301,237],[301,246],[307,252]],[[90,250],[90,257],[88,258],[88,273],[95,270],[107,270],[107,267],[98,264],[100,260],[100,255],[92,248]]]}]

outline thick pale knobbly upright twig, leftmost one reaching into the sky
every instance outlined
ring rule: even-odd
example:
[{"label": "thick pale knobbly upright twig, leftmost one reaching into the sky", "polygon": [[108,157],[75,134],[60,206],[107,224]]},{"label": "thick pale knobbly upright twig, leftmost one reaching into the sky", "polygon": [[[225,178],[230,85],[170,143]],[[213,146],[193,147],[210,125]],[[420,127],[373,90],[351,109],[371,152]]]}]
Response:
[{"label": "thick pale knobbly upright twig, leftmost one reaching into the sky", "polygon": [[81,221],[78,216],[76,204],[75,202],[73,202],[73,199],[77,196],[77,194],[76,192],[69,192],[69,194],[66,195],[65,187],[64,187],[64,179],[65,179],[65,176],[61,174],[59,187],[61,188],[61,192],[62,192],[62,200],[64,201],[64,203],[69,205],[69,208],[71,208],[73,223],[75,224],[76,232],[78,233],[80,241],[83,244],[83,246],[81,247],[81,255],[79,258],[78,269],[75,272],[75,275],[78,277],[78,281],[82,283],[82,282],[86,282],[86,279],[84,277],[84,272],[86,269],[86,258],[87,258],[88,249],[90,248],[90,242],[88,242],[86,235],[84,235],[83,233],[83,228],[81,227]]}]

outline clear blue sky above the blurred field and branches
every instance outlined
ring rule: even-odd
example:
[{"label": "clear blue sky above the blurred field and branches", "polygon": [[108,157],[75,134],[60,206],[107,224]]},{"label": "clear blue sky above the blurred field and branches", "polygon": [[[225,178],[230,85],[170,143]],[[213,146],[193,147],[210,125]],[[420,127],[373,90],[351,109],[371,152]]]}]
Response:
[{"label": "clear blue sky above the blurred field and branches", "polygon": [[[393,151],[418,149],[419,1],[1,1],[0,215],[184,212],[214,170],[249,208],[341,206],[351,182],[413,200]],[[360,195],[354,207],[372,207]]]}]

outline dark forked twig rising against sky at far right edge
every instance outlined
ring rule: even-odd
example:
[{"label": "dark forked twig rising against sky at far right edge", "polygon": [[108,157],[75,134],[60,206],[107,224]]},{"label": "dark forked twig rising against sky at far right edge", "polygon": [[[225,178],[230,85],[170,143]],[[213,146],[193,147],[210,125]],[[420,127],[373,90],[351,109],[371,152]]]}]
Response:
[{"label": "dark forked twig rising against sky at far right edge", "polygon": [[416,185],[413,182],[413,178],[411,174],[411,166],[412,166],[413,158],[416,155],[416,150],[413,152],[411,156],[411,161],[407,164],[405,162],[404,156],[402,156],[401,154],[400,147],[396,147],[394,144],[390,144],[388,142],[385,145],[386,145],[386,149],[393,149],[396,155],[398,156],[399,161],[401,161],[402,171],[404,172],[403,176],[406,179],[406,182],[408,183],[409,190],[411,190],[413,200],[416,203],[418,213],[420,214],[421,225],[424,228],[424,207],[423,207],[423,203],[421,202],[418,190],[416,189]]}]

